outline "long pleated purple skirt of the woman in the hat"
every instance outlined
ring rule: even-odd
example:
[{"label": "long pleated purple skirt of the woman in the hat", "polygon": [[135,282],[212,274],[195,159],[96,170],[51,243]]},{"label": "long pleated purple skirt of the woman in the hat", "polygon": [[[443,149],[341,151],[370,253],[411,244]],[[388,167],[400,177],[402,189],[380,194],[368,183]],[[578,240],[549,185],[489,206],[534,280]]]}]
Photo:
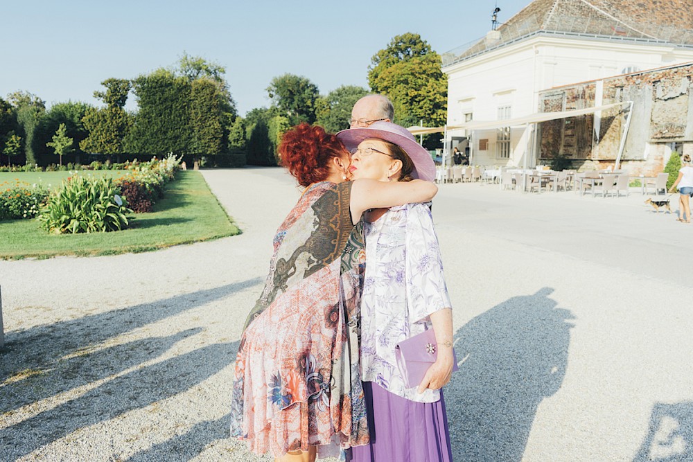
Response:
[{"label": "long pleated purple skirt of the woman in the hat", "polygon": [[353,462],[452,462],[448,416],[437,402],[414,402],[363,382],[371,443],[351,449]]}]

